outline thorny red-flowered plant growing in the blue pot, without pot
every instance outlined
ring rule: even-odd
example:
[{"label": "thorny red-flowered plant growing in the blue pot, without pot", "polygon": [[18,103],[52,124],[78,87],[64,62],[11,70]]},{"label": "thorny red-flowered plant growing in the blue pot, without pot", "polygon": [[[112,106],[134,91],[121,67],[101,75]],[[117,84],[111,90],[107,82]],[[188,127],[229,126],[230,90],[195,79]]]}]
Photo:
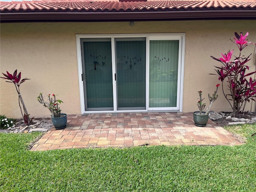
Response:
[{"label": "thorny red-flowered plant growing in the blue pot, without pot", "polygon": [[44,107],[48,108],[52,113],[52,117],[60,117],[60,108],[58,107],[59,104],[63,103],[62,100],[57,100],[55,94],[52,94],[53,98],[50,97],[51,94],[48,94],[48,102],[44,101],[42,93],[39,94],[37,100],[43,104]]}]

